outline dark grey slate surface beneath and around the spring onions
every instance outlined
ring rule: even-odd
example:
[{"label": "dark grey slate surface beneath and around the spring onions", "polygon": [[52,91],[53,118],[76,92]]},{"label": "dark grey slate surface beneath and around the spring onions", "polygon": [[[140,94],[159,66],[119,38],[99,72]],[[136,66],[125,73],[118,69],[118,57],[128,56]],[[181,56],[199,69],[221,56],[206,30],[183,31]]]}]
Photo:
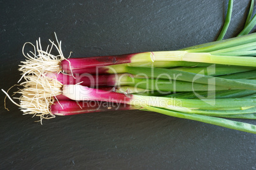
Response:
[{"label": "dark grey slate surface beneath and around the spring onions", "polygon": [[[0,88],[20,75],[22,46],[62,40],[71,57],[185,48],[214,41],[227,1],[0,1]],[[225,38],[236,36],[249,1],[234,1]],[[1,93],[1,169],[255,169],[255,134],[142,111],[56,117],[22,115]],[[242,120],[241,120],[242,121]],[[255,124],[255,121],[244,121]]]}]

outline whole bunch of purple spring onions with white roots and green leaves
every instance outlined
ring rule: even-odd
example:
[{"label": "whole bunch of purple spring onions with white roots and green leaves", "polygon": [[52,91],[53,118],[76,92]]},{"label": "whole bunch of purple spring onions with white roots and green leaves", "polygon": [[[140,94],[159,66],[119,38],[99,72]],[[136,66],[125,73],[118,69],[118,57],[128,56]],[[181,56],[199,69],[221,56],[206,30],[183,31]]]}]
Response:
[{"label": "whole bunch of purple spring onions with white roots and green leaves", "polygon": [[238,37],[222,40],[231,18],[229,1],[218,41],[178,51],[66,59],[61,41],[50,41],[44,51],[39,39],[34,51],[24,53],[19,70],[25,81],[16,104],[40,121],[136,109],[256,133],[253,124],[225,119],[256,119],[256,34],[248,34],[256,22],[252,7],[253,1]]}]

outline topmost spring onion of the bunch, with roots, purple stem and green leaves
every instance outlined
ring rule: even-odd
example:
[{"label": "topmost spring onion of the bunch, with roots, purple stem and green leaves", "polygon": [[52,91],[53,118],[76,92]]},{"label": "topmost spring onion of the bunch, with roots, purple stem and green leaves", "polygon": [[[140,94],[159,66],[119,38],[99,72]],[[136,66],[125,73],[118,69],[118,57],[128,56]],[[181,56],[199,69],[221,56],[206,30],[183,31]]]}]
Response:
[{"label": "topmost spring onion of the bunch, with roots, purple stem and green leaves", "polygon": [[[57,39],[57,37],[56,37]],[[20,71],[24,74],[31,74],[33,72],[71,72],[81,73],[81,70],[104,67],[118,64],[134,64],[134,63],[152,63],[152,62],[199,62],[199,63],[217,63],[223,65],[238,65],[255,67],[256,58],[250,56],[240,55],[225,55],[227,52],[236,50],[250,51],[254,49],[256,41],[255,34],[248,36],[236,37],[229,41],[218,41],[219,43],[213,45],[206,45],[194,49],[185,49],[180,51],[155,51],[133,53],[128,55],[115,55],[115,56],[95,56],[87,58],[64,58],[61,51],[61,41],[54,44],[52,41],[51,48],[46,51],[41,49],[40,40],[34,46],[32,55],[27,53],[24,56],[27,58],[23,65],[20,65]],[[248,44],[253,44],[252,48],[248,49]],[[51,55],[53,46],[59,51],[58,56]],[[36,55],[38,53],[38,55]],[[172,64],[171,64],[172,65]],[[167,67],[167,65],[165,65]],[[78,72],[76,72],[78,70]],[[108,69],[107,69],[108,70]],[[106,70],[104,70],[106,72]]]}]

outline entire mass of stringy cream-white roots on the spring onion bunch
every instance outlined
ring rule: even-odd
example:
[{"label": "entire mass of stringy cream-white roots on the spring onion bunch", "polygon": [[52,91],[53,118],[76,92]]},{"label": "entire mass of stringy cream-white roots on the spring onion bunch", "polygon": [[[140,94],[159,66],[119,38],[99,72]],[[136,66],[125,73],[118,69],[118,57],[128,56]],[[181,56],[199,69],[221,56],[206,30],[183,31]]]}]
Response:
[{"label": "entire mass of stringy cream-white roots on the spring onion bunch", "polygon": [[[40,122],[42,123],[43,119],[51,119],[55,117],[50,110],[50,106],[53,105],[54,101],[57,99],[55,96],[62,94],[62,83],[57,81],[56,77],[48,77],[49,72],[62,72],[60,62],[62,60],[67,60],[61,49],[61,41],[58,41],[55,34],[57,43],[50,41],[50,45],[47,46],[46,50],[43,51],[41,47],[40,38],[36,41],[36,46],[31,42],[26,42],[22,48],[22,53],[25,56],[25,62],[21,62],[22,65],[20,72],[22,76],[18,82],[22,79],[25,81],[20,83],[20,86],[23,86],[23,89],[19,89],[14,94],[19,94],[20,97],[16,98],[20,101],[20,104],[12,100],[8,95],[8,92],[4,93],[10,100],[20,107],[20,110],[25,114],[31,114],[34,116],[40,117]],[[24,48],[26,44],[30,44],[33,51],[29,51],[25,55]],[[59,55],[52,55],[52,50],[57,50]],[[69,55],[70,56],[70,55]],[[69,67],[71,64],[69,62]],[[58,100],[57,100],[58,101]],[[59,102],[59,101],[58,101]],[[7,109],[7,108],[6,108]]]}]

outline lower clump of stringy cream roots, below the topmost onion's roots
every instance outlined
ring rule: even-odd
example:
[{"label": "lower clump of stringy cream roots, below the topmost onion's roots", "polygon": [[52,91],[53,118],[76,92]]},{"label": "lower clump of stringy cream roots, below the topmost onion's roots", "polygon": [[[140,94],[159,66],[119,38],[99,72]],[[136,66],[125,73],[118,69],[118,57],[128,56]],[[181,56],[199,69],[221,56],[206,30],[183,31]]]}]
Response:
[{"label": "lower clump of stringy cream roots, below the topmost onion's roots", "polygon": [[46,74],[38,75],[36,72],[33,75],[24,75],[24,79],[25,82],[20,83],[20,86],[24,88],[15,92],[15,94],[18,93],[21,95],[17,98],[20,104],[13,101],[8,93],[4,91],[6,96],[15,105],[20,107],[24,115],[31,114],[33,117],[39,116],[41,123],[43,119],[55,117],[50,110],[50,106],[57,100],[55,96],[62,94],[63,85],[53,77],[48,77]]}]

